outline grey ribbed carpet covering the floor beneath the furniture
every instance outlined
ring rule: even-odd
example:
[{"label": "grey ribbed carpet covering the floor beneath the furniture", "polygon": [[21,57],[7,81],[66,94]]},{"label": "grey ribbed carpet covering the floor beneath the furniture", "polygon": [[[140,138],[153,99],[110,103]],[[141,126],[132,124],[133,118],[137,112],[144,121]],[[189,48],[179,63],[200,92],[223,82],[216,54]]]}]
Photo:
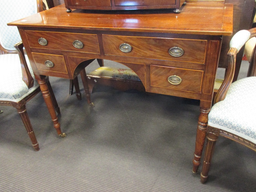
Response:
[{"label": "grey ribbed carpet covering the floor beneath the furniture", "polygon": [[0,191],[256,191],[256,153],[222,137],[208,183],[192,173],[197,100],[97,86],[90,108],[79,80],[81,101],[69,80],[50,78],[66,138],[40,93],[27,103],[38,152],[16,110],[1,106]]}]

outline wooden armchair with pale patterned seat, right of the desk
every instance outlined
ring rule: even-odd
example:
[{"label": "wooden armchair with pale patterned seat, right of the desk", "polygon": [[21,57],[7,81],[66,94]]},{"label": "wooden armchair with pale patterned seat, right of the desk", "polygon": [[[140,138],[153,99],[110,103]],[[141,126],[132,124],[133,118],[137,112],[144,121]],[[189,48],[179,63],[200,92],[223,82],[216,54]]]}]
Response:
[{"label": "wooden armchair with pale patterned seat, right of the desk", "polygon": [[[231,84],[236,55],[241,47],[255,36],[256,28],[241,30],[230,41],[228,71],[208,116],[207,145],[201,172],[202,183],[208,179],[209,167],[219,135],[256,151],[256,77],[247,77]],[[253,52],[255,57],[255,49]],[[255,66],[255,60],[253,64]],[[256,75],[255,68],[252,74]]]}]

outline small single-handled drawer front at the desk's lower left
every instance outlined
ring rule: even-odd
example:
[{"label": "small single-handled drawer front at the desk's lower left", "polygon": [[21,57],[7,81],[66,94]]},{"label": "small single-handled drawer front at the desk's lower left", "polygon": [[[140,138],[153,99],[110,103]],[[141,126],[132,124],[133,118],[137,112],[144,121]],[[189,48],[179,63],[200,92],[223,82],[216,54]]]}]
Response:
[{"label": "small single-handled drawer front at the desk's lower left", "polygon": [[46,72],[55,72],[56,77],[61,75],[58,75],[58,73],[68,74],[67,66],[62,55],[32,53],[32,56],[38,71],[44,72],[42,74],[45,74]]}]

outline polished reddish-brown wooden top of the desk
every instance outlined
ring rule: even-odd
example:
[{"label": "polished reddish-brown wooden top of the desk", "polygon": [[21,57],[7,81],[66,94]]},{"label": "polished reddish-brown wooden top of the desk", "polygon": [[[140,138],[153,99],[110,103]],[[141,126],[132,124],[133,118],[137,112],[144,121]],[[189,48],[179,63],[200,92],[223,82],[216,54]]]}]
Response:
[{"label": "polished reddish-brown wooden top of the desk", "polygon": [[188,1],[181,13],[172,9],[92,11],[75,9],[66,12],[65,5],[11,22],[9,26],[107,31],[176,33],[195,35],[231,35],[233,5],[219,1]]}]

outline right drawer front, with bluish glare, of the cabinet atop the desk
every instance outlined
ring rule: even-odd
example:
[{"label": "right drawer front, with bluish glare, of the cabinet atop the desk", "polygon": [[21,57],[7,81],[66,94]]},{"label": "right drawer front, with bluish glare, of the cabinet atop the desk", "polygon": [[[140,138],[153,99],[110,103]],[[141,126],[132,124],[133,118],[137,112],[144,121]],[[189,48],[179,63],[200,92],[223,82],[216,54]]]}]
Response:
[{"label": "right drawer front, with bluish glare, of the cabinet atop the desk", "polygon": [[175,3],[175,0],[135,0],[130,2],[115,0],[115,6],[175,5]]}]

